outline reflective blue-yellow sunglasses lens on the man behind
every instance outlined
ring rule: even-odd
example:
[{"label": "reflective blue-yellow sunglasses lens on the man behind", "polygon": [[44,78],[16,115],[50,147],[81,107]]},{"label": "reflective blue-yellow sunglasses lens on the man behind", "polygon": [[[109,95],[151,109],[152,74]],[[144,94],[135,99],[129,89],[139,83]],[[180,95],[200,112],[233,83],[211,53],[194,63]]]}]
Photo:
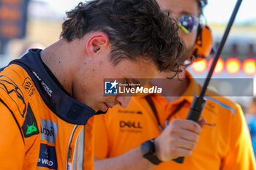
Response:
[{"label": "reflective blue-yellow sunglasses lens on the man behind", "polygon": [[191,33],[198,26],[198,19],[192,15],[182,15],[178,18],[178,26],[185,33]]}]

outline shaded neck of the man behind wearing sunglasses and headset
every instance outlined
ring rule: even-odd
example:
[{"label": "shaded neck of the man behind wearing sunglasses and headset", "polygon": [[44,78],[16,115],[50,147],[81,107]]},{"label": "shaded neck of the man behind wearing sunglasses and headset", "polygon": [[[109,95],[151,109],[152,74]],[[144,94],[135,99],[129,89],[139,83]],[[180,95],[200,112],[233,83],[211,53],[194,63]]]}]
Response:
[{"label": "shaded neck of the man behind wearing sunglasses and headset", "polygon": [[[166,79],[166,77],[172,77],[173,75],[173,72],[161,72],[154,80],[151,80],[151,85],[163,89],[162,96],[165,96],[168,102],[178,100],[189,86],[189,79],[187,78],[184,69],[170,81]],[[157,79],[163,79],[163,81],[158,81]]]}]

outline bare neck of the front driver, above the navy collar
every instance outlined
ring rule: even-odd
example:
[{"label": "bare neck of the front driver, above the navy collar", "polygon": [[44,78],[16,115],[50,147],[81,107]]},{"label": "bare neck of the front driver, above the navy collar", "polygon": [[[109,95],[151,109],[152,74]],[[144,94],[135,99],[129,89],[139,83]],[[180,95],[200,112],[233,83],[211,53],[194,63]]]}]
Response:
[{"label": "bare neck of the front driver, above the navy collar", "polygon": [[72,96],[72,77],[75,72],[75,56],[74,49],[78,49],[74,41],[67,42],[60,39],[58,42],[50,45],[42,50],[40,55],[42,61],[48,66],[50,71],[59,80],[67,93]]}]

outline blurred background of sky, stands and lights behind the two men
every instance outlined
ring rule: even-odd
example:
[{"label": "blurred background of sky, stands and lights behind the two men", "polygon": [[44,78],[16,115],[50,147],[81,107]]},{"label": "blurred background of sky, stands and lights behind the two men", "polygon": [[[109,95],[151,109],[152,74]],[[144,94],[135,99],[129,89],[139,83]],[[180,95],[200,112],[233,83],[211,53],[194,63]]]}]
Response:
[{"label": "blurred background of sky, stands and lights behind the two men", "polygon": [[[32,47],[45,48],[58,41],[65,12],[79,0],[0,0],[0,67],[19,58]],[[210,26],[218,47],[236,0],[209,0],[202,23]],[[248,121],[256,115],[256,12],[255,0],[244,0],[214,72],[216,79],[248,79],[242,95],[233,95],[236,83],[218,83],[210,88],[241,104]],[[205,78],[211,58],[193,63],[188,70]],[[244,94],[244,95],[243,95]],[[256,122],[256,120],[255,120]],[[255,123],[256,124],[256,123]],[[256,128],[255,128],[256,129]]]}]

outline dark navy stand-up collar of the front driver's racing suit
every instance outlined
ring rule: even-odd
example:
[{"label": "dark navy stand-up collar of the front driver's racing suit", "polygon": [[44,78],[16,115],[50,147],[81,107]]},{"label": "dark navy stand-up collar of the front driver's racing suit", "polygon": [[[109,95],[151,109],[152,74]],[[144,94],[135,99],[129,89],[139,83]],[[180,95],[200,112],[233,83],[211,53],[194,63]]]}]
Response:
[{"label": "dark navy stand-up collar of the front driver's racing suit", "polygon": [[22,58],[10,64],[18,64],[26,70],[48,108],[67,123],[86,125],[90,117],[105,113],[76,101],[62,90],[43,66],[39,49],[31,49]]}]

